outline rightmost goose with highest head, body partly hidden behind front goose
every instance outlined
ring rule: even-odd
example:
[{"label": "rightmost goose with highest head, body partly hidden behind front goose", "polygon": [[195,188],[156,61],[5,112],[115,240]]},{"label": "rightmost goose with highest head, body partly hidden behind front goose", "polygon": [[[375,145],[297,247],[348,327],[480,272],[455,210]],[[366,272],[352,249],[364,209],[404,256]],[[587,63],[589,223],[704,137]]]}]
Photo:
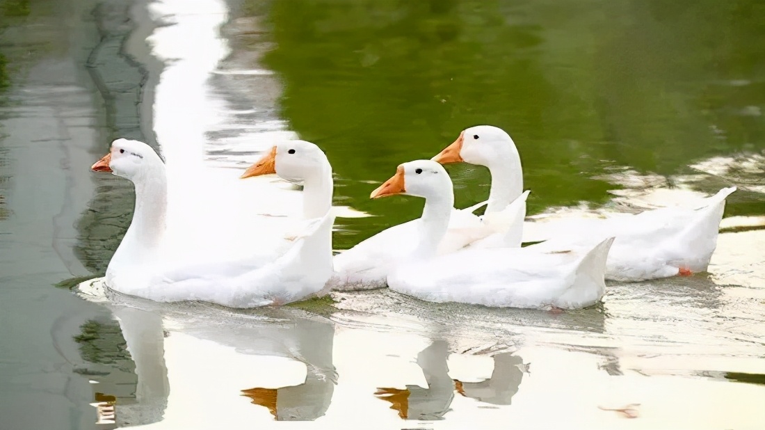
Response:
[{"label": "rightmost goose with highest head, body partly hidden behind front goose", "polygon": [[[433,159],[442,164],[465,161],[489,168],[492,183],[487,213],[503,210],[522,191],[518,149],[513,139],[497,127],[477,125],[465,129]],[[717,246],[725,199],[734,191],[735,187],[723,188],[686,209],[661,208],[597,220],[526,223],[524,239],[548,240],[534,247],[555,250],[591,247],[615,236],[606,271],[606,279],[615,281],[705,272]],[[529,236],[529,230],[534,230],[535,235]]]}]

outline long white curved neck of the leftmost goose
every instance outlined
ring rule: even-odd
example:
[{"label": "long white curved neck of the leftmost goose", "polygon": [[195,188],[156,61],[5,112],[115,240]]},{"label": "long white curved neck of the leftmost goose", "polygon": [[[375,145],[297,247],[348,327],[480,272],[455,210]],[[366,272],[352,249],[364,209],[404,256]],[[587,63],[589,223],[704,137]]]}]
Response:
[{"label": "long white curved neck of the leftmost goose", "polygon": [[107,282],[122,267],[155,259],[164,236],[168,211],[168,179],[164,165],[140,172],[132,182],[135,184],[133,219],[109,262]]}]

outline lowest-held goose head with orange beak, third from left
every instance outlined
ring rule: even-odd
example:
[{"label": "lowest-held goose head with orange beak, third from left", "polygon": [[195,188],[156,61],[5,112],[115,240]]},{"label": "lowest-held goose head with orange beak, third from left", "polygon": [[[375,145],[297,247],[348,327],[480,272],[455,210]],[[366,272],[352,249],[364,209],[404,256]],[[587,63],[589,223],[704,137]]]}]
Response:
[{"label": "lowest-held goose head with orange beak, third from left", "polygon": [[406,194],[416,197],[438,197],[451,192],[451,178],[444,166],[431,160],[409,161],[396,168],[396,174],[377,187],[370,198]]}]

